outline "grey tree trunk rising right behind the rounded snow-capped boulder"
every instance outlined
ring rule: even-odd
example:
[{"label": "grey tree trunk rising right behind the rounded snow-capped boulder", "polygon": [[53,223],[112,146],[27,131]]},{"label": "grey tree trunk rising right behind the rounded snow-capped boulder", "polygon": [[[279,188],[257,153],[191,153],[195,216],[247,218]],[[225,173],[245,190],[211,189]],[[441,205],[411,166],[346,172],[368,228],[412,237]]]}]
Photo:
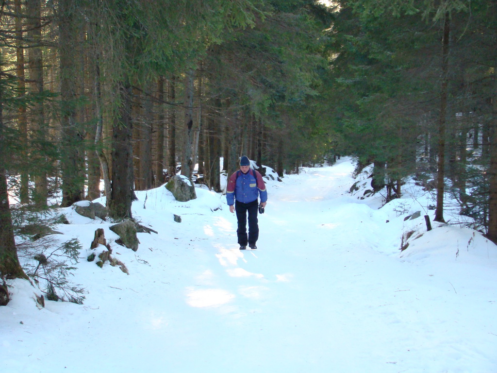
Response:
[{"label": "grey tree trunk rising right behind the rounded snow-capped boulder", "polygon": [[181,175],[191,179],[193,171],[192,144],[193,144],[193,94],[195,72],[189,69],[185,77],[185,121],[183,132],[183,151],[181,157]]}]

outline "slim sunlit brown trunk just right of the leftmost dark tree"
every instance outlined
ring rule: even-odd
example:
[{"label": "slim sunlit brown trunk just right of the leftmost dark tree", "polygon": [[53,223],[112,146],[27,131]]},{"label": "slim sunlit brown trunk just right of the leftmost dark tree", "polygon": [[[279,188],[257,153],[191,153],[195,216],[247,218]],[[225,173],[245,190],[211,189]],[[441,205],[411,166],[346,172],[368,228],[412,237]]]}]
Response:
[{"label": "slim sunlit brown trunk just right of the leftmost dark tree", "polygon": [[[16,74],[17,74],[17,95],[22,97],[26,92],[24,76],[24,47],[22,31],[22,6],[20,0],[14,0],[15,6],[15,37],[16,37]],[[28,125],[26,118],[26,107],[20,105],[17,109],[17,121],[22,142],[28,142]],[[22,158],[27,159],[27,152],[22,150]],[[21,187],[19,192],[21,203],[29,203],[29,174],[26,170],[21,170]]]}]

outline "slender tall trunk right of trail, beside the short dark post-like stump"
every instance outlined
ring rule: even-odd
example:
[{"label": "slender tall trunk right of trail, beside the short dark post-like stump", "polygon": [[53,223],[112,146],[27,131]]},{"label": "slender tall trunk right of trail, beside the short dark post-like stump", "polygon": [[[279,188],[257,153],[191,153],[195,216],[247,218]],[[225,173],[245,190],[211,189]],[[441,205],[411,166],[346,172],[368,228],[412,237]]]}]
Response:
[{"label": "slender tall trunk right of trail, beside the short dark post-like stump", "polygon": [[445,222],[443,218],[443,194],[445,190],[445,122],[447,113],[448,95],[448,73],[449,73],[449,36],[450,36],[450,16],[445,13],[443,22],[442,38],[442,87],[440,93],[440,116],[438,118],[438,162],[437,162],[437,186],[436,186],[436,209],[433,220]]}]

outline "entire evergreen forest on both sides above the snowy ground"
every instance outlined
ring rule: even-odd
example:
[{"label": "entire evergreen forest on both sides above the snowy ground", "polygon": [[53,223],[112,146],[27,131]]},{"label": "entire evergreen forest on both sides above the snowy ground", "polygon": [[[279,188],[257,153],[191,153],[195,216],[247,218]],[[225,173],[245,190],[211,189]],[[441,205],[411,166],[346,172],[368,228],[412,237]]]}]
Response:
[{"label": "entire evergreen forest on both sides above the snowy ground", "polygon": [[29,0],[0,12],[0,160],[24,206],[59,188],[63,206],[95,198],[103,179],[119,220],[133,190],[191,178],[197,163],[221,191],[220,157],[227,172],[247,154],[282,176],[352,154],[387,198],[413,174],[443,195],[446,177],[497,241],[495,1]]}]

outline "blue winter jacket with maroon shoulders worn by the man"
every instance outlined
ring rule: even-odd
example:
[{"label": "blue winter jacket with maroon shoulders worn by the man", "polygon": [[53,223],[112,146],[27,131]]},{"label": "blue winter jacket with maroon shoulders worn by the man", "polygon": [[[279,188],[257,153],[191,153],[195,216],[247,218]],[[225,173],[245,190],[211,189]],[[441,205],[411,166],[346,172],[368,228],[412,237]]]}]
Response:
[{"label": "blue winter jacket with maroon shoulders worn by the man", "polygon": [[239,202],[250,203],[260,196],[260,201],[267,201],[267,190],[262,175],[258,171],[248,170],[247,174],[238,170],[228,180],[226,188],[226,200],[228,205],[235,204],[235,199]]}]

